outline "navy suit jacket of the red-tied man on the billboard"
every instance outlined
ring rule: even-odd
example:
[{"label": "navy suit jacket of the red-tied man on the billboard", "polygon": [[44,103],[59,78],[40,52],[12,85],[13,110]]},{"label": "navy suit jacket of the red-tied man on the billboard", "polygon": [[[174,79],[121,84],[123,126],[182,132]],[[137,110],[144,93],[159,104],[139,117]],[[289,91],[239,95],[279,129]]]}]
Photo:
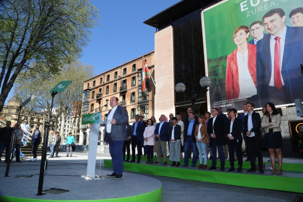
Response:
[{"label": "navy suit jacket of the red-tied man on the billboard", "polygon": [[[300,64],[303,61],[303,27],[286,27],[281,74],[285,87],[285,104],[289,104],[294,103],[295,98],[303,98],[303,78],[299,76]],[[272,74],[270,36],[271,34],[264,36],[257,43],[257,90],[260,103],[256,104],[256,108],[263,107],[270,101],[269,81]]]}]

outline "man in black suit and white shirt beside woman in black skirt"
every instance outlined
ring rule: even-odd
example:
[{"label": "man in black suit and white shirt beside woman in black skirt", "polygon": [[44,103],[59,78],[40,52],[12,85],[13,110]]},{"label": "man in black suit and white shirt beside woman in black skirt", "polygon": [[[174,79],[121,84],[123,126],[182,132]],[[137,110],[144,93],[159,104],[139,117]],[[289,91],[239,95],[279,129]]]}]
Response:
[{"label": "man in black suit and white shirt beside woman in black skirt", "polygon": [[248,173],[256,172],[256,155],[258,157],[259,173],[264,173],[263,157],[261,153],[261,117],[254,112],[255,103],[247,102],[247,115],[244,117],[244,134],[246,135],[246,150],[250,160]]}]

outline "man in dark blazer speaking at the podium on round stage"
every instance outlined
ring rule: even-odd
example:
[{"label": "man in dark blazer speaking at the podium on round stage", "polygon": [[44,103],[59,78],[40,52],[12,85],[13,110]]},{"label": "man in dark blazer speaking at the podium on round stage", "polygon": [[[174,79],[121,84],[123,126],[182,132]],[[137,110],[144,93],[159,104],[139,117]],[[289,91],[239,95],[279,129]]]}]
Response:
[{"label": "man in dark blazer speaking at the podium on round stage", "polygon": [[123,175],[123,145],[126,138],[128,114],[124,107],[119,106],[118,97],[111,97],[110,110],[105,127],[106,142],[110,145],[110,154],[114,172],[107,177],[121,179]]}]

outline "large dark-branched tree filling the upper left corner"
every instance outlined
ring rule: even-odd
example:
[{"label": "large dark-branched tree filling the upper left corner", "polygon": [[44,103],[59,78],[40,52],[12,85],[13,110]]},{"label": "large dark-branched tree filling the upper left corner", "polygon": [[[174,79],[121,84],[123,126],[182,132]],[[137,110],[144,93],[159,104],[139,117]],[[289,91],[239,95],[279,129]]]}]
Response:
[{"label": "large dark-branched tree filling the upper left corner", "polygon": [[17,76],[32,63],[56,74],[78,58],[97,18],[89,0],[0,1],[0,112]]}]

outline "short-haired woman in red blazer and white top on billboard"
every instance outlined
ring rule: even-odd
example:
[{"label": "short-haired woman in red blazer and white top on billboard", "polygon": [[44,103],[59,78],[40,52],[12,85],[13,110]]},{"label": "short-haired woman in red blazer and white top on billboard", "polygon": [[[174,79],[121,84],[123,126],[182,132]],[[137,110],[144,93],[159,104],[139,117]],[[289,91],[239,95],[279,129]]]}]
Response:
[{"label": "short-haired woman in red blazer and white top on billboard", "polygon": [[249,28],[241,25],[233,39],[237,48],[227,56],[226,99],[249,98],[257,94],[257,45],[247,43]]}]

